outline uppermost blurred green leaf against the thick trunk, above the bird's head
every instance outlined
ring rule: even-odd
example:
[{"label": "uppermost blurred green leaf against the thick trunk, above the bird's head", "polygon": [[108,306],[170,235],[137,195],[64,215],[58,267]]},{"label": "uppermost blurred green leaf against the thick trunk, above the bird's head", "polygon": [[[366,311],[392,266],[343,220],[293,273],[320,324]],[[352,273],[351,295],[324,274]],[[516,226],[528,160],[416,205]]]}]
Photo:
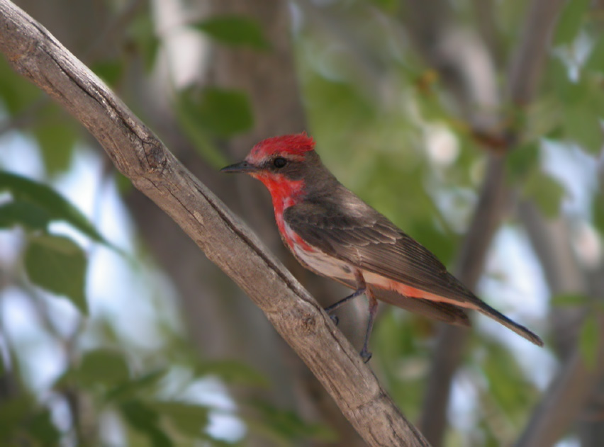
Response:
[{"label": "uppermost blurred green leaf against the thick trunk, above the bird's head", "polygon": [[228,45],[247,46],[257,50],[267,50],[270,47],[259,24],[245,16],[215,16],[194,23],[193,28]]}]

